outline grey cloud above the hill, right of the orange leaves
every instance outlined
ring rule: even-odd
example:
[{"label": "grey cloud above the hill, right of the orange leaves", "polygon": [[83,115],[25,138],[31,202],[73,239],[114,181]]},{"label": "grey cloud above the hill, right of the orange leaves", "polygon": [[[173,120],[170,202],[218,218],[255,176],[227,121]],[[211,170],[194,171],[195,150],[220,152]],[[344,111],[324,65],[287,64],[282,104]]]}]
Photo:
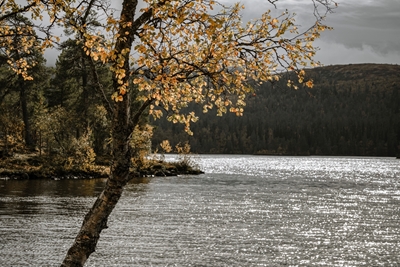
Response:
[{"label": "grey cloud above the hill, right of the orange leaves", "polygon": [[399,18],[400,1],[343,1],[327,18],[327,24],[334,30],[322,36],[326,45],[321,48],[328,51],[332,46],[340,48],[346,55],[337,55],[342,61],[354,58],[358,62],[399,64]]}]

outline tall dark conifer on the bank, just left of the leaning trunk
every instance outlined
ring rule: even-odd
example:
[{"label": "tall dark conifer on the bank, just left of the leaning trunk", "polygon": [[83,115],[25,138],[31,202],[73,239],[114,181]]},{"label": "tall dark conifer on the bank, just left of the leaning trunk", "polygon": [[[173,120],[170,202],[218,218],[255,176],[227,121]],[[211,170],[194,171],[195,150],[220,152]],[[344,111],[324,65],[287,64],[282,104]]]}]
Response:
[{"label": "tall dark conifer on the bank, just left of the leaning trunk", "polygon": [[[82,45],[77,45],[79,39],[68,39],[60,45],[61,53],[56,62],[55,75],[52,77],[52,88],[46,92],[49,108],[61,106],[68,111],[68,116],[73,118],[73,125],[69,130],[63,129],[64,136],[80,138],[88,128],[94,138],[96,154],[102,154],[104,140],[109,138],[107,127],[107,114],[102,93],[94,90],[92,75],[89,68],[88,56],[83,53]],[[111,72],[102,63],[95,66],[99,73],[100,82],[105,88],[110,88]],[[108,85],[108,86],[107,86]],[[111,93],[105,93],[111,95]],[[106,114],[104,114],[106,113]],[[108,115],[108,116],[105,116]],[[67,134],[69,133],[69,134]],[[67,140],[70,142],[70,140]]]}]

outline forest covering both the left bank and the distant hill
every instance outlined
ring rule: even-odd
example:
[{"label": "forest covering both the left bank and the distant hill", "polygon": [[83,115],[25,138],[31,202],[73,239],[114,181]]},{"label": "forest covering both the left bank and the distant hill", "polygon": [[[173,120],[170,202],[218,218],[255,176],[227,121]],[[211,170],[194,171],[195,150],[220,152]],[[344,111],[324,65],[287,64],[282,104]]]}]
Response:
[{"label": "forest covering both the left bank and the distant hill", "polygon": [[[73,40],[63,43],[55,67],[40,53],[33,80],[0,66],[0,139],[3,156],[18,149],[51,155],[63,165],[90,166],[110,153],[110,117],[88,62]],[[103,88],[111,73],[99,65]],[[309,69],[314,87],[289,88],[290,73],[254,82],[243,116],[216,116],[190,104],[199,120],[184,125],[145,116],[133,138],[139,151],[190,144],[193,153],[397,156],[400,152],[400,66],[335,65]],[[110,87],[110,86],[108,86]],[[148,118],[148,119],[147,119]],[[136,140],[136,141],[135,141]]]}]

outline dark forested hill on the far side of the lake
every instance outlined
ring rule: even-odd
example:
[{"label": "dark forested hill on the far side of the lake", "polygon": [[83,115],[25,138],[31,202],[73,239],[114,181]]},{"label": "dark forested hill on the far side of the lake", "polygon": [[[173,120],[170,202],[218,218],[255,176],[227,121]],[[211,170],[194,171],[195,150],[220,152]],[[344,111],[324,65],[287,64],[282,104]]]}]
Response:
[{"label": "dark forested hill on the far side of the lake", "polygon": [[285,79],[247,98],[243,117],[202,114],[194,136],[165,119],[153,146],[189,141],[196,153],[396,156],[400,153],[400,66],[351,64],[306,71],[314,88]]}]

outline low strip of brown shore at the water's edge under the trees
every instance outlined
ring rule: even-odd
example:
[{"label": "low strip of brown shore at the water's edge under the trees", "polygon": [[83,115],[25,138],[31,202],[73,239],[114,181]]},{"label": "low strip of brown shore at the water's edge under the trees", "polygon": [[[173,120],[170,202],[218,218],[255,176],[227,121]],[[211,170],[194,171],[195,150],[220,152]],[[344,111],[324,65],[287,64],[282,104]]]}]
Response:
[{"label": "low strip of brown shore at the water's edge under the trees", "polygon": [[[110,174],[109,160],[100,160],[86,169],[66,168],[54,164],[49,157],[37,154],[15,153],[0,159],[0,179],[94,179],[106,178]],[[200,169],[186,162],[166,162],[160,159],[147,159],[140,170],[132,170],[132,177],[177,176],[202,174]]]}]

